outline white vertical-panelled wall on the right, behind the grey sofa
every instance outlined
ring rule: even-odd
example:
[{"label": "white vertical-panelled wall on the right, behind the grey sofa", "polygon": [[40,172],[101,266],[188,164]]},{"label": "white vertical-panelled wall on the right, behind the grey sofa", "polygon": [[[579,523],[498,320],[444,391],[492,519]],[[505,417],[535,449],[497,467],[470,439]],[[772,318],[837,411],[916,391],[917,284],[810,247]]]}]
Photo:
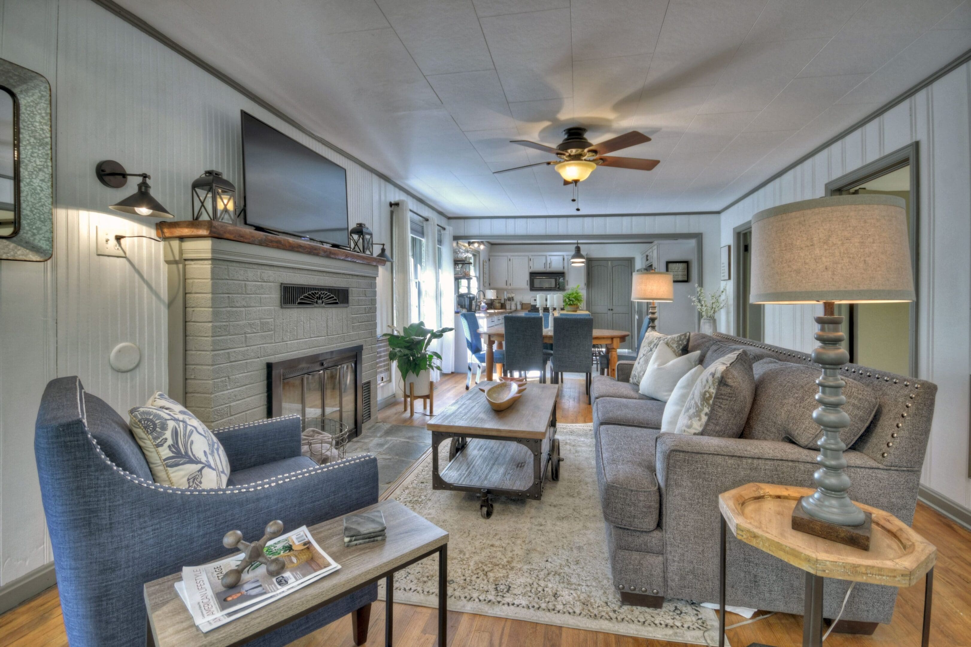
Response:
[{"label": "white vertical-panelled wall on the right, behind the grey sofa", "polygon": [[[921,89],[877,119],[802,162],[724,211],[721,245],[756,212],[820,197],[825,185],[912,142],[920,160],[918,230],[918,375],[938,385],[921,483],[971,508],[968,478],[968,374],[971,373],[971,64]],[[825,250],[820,250],[824,254]],[[865,262],[865,259],[860,259]],[[728,289],[729,295],[732,289]],[[734,304],[733,304],[734,306]],[[812,351],[814,310],[765,306],[765,341]],[[734,317],[727,309],[720,329]]]}]

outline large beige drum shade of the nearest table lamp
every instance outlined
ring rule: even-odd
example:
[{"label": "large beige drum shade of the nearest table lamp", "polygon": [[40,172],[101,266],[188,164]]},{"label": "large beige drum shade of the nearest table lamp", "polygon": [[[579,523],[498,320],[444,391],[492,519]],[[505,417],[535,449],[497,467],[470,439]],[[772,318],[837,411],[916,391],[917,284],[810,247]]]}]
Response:
[{"label": "large beige drum shade of the nearest table lamp", "polygon": [[894,195],[837,195],[752,219],[753,303],[913,301],[906,204]]}]

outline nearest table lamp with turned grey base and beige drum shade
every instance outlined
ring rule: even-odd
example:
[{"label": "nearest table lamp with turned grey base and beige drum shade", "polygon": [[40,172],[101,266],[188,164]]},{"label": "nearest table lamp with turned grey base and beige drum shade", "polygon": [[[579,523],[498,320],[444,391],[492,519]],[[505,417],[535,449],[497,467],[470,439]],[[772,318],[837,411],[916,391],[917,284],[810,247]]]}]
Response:
[{"label": "nearest table lamp with turned grey base and beige drum shade", "polygon": [[817,490],[792,512],[792,528],[869,550],[870,515],[850,500],[840,430],[850,425],[840,370],[850,355],[840,345],[836,303],[913,301],[906,205],[893,195],[839,195],[760,211],[752,219],[752,303],[822,303],[822,375],[813,421],[822,428]]}]

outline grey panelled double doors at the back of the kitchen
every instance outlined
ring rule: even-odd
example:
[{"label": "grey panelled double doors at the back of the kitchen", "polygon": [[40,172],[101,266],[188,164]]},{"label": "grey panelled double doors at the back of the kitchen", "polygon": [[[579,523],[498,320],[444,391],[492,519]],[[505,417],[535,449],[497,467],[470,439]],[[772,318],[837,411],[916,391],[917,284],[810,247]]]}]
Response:
[{"label": "grey panelled double doors at the back of the kitchen", "polygon": [[[586,309],[593,315],[593,327],[626,330],[633,327],[630,282],[633,258],[586,259]],[[630,350],[631,337],[620,345]]]}]

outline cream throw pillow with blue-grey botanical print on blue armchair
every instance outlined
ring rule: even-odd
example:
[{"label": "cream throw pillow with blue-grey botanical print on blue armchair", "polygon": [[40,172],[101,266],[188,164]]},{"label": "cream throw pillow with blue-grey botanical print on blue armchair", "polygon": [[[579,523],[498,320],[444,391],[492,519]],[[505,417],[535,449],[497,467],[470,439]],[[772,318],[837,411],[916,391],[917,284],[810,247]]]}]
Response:
[{"label": "cream throw pillow with blue-grey botanical print on blue armchair", "polygon": [[155,483],[174,488],[224,488],[229,460],[218,439],[181,404],[157,392],[149,405],[128,411]]}]

